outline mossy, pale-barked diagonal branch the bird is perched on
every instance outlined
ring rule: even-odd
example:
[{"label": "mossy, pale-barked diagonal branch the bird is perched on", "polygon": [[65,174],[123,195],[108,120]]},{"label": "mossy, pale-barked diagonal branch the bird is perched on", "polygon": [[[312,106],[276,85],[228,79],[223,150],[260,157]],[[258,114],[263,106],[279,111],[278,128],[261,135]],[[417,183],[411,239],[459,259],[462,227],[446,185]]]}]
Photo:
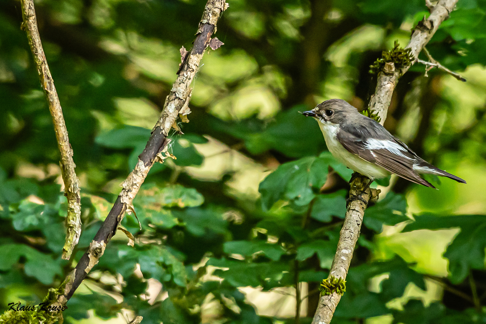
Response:
[{"label": "mossy, pale-barked diagonal branch the bird is perched on", "polygon": [[[411,64],[417,61],[418,53],[429,42],[438,27],[449,17],[458,0],[439,0],[431,9],[429,18],[425,18],[417,24],[412,32],[407,49],[411,49],[411,54],[415,58]],[[393,90],[397,85],[398,79],[403,75],[410,65],[404,68],[395,68],[393,63],[385,65],[383,70],[378,74],[378,83],[376,91],[369,103],[370,110],[374,110],[381,118],[381,123],[386,119],[388,106],[390,105]],[[363,223],[364,211],[370,199],[375,198],[377,191],[373,192],[365,184],[368,179],[365,176],[357,176],[350,183],[349,204],[344,220],[344,225],[339,236],[337,251],[332,261],[329,277],[326,281],[337,282],[335,279],[346,280],[347,271],[351,263],[354,247],[360,235],[361,224]],[[333,280],[334,279],[334,280]],[[341,299],[338,289],[330,294],[321,296],[319,305],[314,314],[312,324],[330,324],[334,311]]]}]

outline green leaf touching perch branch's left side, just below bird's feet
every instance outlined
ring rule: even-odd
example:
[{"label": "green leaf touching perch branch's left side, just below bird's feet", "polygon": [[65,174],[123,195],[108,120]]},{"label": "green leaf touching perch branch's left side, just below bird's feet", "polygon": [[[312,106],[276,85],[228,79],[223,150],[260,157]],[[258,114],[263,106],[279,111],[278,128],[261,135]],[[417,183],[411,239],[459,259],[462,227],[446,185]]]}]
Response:
[{"label": "green leaf touching perch branch's left side, just below bird's feet", "polygon": [[318,195],[312,205],[311,217],[320,222],[330,222],[332,216],[344,218],[346,214],[346,190]]}]

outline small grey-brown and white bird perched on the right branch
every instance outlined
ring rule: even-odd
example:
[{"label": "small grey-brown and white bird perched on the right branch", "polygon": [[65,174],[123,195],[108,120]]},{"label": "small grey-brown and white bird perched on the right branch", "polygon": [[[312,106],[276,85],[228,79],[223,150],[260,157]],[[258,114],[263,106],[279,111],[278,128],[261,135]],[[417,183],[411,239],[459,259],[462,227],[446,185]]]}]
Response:
[{"label": "small grey-brown and white bird perched on the right branch", "polygon": [[327,100],[302,114],[317,120],[329,152],[349,169],[370,178],[368,186],[390,173],[430,188],[435,187],[419,174],[435,174],[466,183],[418,157],[380,123],[360,114],[344,100]]}]

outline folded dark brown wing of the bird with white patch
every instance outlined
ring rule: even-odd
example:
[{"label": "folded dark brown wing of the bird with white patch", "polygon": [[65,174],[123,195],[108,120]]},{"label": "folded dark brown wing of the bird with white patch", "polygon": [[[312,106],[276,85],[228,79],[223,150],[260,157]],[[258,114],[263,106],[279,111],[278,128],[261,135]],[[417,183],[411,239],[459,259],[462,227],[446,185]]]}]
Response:
[{"label": "folded dark brown wing of the bird with white patch", "polygon": [[350,153],[409,181],[434,188],[413,170],[418,157],[405,144],[398,142],[386,130],[386,133],[383,133],[373,132],[370,128],[365,128],[365,131],[362,131],[363,129],[360,126],[341,128],[337,133],[337,139]]}]

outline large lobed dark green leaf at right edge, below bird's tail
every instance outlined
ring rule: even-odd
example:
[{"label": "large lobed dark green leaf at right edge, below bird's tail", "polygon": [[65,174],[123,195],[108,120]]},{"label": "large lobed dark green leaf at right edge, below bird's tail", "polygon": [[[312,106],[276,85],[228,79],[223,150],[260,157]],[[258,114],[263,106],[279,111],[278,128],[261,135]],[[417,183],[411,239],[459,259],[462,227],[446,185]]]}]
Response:
[{"label": "large lobed dark green leaf at right edge, below bird's tail", "polygon": [[468,276],[470,269],[484,270],[485,268],[486,215],[417,215],[415,222],[405,226],[403,231],[452,227],[459,227],[461,231],[447,247],[444,256],[449,259],[449,279],[452,283],[458,284]]}]

